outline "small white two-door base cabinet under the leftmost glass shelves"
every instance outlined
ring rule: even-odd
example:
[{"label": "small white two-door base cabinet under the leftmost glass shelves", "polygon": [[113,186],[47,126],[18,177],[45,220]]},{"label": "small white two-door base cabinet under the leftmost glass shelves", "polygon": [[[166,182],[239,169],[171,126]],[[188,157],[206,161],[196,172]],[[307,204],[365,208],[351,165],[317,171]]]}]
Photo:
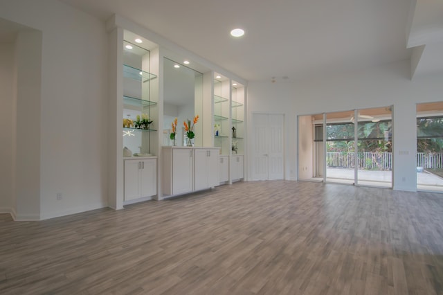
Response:
[{"label": "small white two-door base cabinet under the leftmost glass shelves", "polygon": [[157,193],[157,160],[125,159],[125,201]]}]

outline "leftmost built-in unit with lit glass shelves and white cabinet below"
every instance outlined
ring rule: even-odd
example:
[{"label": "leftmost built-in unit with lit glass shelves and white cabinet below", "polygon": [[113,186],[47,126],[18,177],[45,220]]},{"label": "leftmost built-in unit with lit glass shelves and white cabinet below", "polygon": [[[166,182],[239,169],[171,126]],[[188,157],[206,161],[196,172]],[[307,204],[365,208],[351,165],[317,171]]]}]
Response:
[{"label": "leftmost built-in unit with lit glass shelves and white cabinet below", "polygon": [[123,154],[123,204],[131,204],[157,195],[159,98],[150,51],[129,41],[123,47],[123,147],[131,151]]}]

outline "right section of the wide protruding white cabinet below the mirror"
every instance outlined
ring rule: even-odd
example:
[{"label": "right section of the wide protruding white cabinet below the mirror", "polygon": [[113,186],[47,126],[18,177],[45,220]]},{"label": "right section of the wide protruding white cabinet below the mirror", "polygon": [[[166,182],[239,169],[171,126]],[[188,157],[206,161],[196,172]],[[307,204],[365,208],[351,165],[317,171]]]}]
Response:
[{"label": "right section of the wide protruding white cabinet below the mirror", "polygon": [[204,190],[219,185],[219,149],[194,150],[194,190]]}]

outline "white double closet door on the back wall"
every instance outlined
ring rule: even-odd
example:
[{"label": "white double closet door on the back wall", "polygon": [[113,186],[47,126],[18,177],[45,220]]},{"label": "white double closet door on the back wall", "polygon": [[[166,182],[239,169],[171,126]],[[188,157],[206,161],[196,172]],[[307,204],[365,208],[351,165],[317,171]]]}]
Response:
[{"label": "white double closet door on the back wall", "polygon": [[282,114],[253,114],[252,179],[284,178]]}]

